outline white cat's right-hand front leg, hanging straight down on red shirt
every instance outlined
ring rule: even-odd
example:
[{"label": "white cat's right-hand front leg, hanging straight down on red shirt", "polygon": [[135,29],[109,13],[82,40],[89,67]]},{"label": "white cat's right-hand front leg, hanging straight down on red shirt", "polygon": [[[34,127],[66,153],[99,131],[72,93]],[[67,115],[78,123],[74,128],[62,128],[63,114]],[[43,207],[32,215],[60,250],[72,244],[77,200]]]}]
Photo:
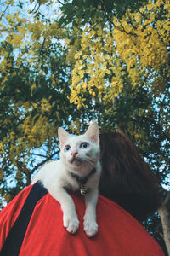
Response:
[{"label": "white cat's right-hand front leg, hanging straight down on red shirt", "polygon": [[84,231],[87,236],[92,237],[98,232],[98,224],[96,222],[96,204],[99,192],[97,189],[88,192],[85,197],[86,212],[84,215]]}]

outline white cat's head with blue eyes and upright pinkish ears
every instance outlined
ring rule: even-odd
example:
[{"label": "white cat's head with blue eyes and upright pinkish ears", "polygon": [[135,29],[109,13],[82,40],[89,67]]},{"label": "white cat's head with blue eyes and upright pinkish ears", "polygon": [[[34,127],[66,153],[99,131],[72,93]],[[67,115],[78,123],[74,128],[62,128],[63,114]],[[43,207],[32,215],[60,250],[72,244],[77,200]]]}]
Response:
[{"label": "white cat's head with blue eyes and upright pinkish ears", "polygon": [[60,160],[71,172],[82,175],[91,171],[99,160],[99,128],[96,122],[89,125],[83,135],[71,136],[59,127]]}]

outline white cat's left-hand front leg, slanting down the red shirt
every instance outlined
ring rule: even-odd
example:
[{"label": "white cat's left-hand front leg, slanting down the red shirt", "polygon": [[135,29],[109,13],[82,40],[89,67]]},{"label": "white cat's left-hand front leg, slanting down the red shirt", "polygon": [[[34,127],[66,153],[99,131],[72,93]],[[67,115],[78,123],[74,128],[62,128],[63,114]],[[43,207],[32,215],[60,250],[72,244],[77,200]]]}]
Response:
[{"label": "white cat's left-hand front leg, slanting down the red shirt", "polygon": [[51,192],[50,194],[60,203],[63,211],[63,225],[65,229],[74,234],[79,227],[79,220],[77,218],[74,201],[64,188],[57,189],[55,190],[55,193]]}]

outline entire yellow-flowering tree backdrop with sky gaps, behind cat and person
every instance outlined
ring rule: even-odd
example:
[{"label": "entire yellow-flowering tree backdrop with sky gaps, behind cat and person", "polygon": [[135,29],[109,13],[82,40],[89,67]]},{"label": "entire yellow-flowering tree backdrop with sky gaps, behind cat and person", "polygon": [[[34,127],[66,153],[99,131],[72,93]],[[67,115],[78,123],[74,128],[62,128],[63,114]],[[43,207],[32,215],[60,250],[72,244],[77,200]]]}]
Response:
[{"label": "entire yellow-flowering tree backdrop with sky gaps, behind cat and person", "polygon": [[79,132],[92,119],[101,131],[126,133],[161,185],[169,184],[169,3],[3,0],[0,189],[5,201],[28,185],[42,164],[59,157],[60,125]]}]

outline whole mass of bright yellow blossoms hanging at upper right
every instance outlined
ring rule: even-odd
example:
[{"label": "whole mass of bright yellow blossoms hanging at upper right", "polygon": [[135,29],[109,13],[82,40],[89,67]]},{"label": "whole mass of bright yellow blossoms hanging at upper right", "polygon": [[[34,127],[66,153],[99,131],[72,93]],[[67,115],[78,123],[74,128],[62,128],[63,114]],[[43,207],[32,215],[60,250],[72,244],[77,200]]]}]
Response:
[{"label": "whole mass of bright yellow blossoms hanging at upper right", "polygon": [[150,78],[150,73],[159,73],[162,65],[168,65],[169,6],[169,0],[149,0],[139,12],[127,10],[122,20],[115,17],[112,27],[109,22],[103,27],[99,22],[86,26],[81,47],[74,49],[70,102],[81,108],[89,95],[111,102],[122,92],[125,66],[134,87]]}]

